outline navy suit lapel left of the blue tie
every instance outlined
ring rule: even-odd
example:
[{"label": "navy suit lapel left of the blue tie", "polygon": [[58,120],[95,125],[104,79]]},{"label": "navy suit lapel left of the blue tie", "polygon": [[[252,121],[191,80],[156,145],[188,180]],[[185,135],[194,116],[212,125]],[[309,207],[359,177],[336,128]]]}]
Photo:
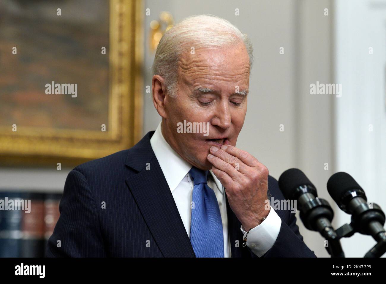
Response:
[{"label": "navy suit lapel left of the blue tie", "polygon": [[[163,256],[195,257],[173,195],[151,148],[153,133],[147,133],[130,149],[133,150],[129,151],[126,165],[139,173],[126,179],[126,184]],[[146,169],[147,163],[150,163],[150,170]]]}]

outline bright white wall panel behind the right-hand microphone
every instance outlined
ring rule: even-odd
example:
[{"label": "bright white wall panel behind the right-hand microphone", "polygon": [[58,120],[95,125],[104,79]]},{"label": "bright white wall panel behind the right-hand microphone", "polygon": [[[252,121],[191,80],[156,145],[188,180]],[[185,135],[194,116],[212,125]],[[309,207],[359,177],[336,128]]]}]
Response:
[{"label": "bright white wall panel behind the right-hand microphone", "polygon": [[[335,10],[335,72],[343,89],[335,110],[336,169],[352,175],[367,201],[385,210],[386,1],[337,1]],[[350,223],[350,216],[338,211],[337,220]],[[375,241],[356,233],[342,245],[348,257],[362,257]]]}]

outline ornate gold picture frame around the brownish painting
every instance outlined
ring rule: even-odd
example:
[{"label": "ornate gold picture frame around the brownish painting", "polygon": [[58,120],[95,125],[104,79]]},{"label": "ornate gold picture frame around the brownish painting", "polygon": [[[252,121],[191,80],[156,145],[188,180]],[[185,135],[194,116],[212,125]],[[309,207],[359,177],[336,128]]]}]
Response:
[{"label": "ornate gold picture frame around the brownish painting", "polygon": [[0,125],[2,165],[77,165],[133,146],[142,136],[142,0],[110,0],[105,132]]}]

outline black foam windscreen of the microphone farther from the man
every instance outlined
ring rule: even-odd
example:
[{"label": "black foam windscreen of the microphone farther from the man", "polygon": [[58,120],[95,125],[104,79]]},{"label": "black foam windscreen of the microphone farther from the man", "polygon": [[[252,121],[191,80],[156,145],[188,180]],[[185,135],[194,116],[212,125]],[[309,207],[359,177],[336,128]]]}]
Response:
[{"label": "black foam windscreen of the microphone farther from the man", "polygon": [[350,189],[362,189],[351,175],[345,172],[334,173],[327,182],[327,191],[337,204]]}]

